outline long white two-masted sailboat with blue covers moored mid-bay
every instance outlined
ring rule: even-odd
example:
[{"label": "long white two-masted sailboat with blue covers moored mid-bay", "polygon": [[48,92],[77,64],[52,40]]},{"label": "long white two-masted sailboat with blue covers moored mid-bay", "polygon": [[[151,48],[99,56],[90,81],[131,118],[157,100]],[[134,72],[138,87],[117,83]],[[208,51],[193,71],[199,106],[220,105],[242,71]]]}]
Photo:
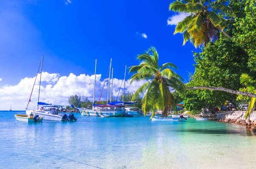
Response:
[{"label": "long white two-masted sailboat with blue covers moored mid-bay", "polygon": [[[111,63],[110,62],[110,69],[111,70]],[[86,109],[81,107],[75,107],[73,104],[70,106],[73,108],[76,108],[80,111],[81,115],[83,116],[111,116],[111,117],[119,117],[122,114],[125,114],[125,106],[130,104],[135,104],[137,102],[123,102],[123,101],[114,101],[112,102],[110,99],[110,102],[108,104],[94,104],[95,101],[95,85],[96,85],[96,68],[97,68],[97,60],[95,61],[95,72],[94,72],[94,89],[93,89],[93,108],[92,109]],[[110,85],[110,75],[111,71],[109,72],[108,77],[108,94],[107,94],[107,100],[109,99],[109,85]],[[112,84],[113,84],[113,69],[112,69]],[[113,86],[112,86],[113,87]],[[112,87],[111,87],[111,97],[112,97]]]}]

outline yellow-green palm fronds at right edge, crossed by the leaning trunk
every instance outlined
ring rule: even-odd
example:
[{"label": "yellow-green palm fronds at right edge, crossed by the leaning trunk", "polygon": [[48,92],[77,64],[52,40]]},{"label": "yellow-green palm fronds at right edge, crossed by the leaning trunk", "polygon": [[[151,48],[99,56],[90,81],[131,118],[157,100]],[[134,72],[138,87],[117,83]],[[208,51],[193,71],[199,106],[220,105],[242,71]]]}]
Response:
[{"label": "yellow-green palm fronds at right edge, crossed by the leaning trunk", "polygon": [[[245,85],[250,91],[253,91],[256,94],[256,80],[253,80],[248,74],[242,74],[240,77],[240,83]],[[256,98],[252,97],[249,104],[248,109],[244,115],[244,118],[250,117],[251,113],[253,112],[253,108],[255,107]]]}]

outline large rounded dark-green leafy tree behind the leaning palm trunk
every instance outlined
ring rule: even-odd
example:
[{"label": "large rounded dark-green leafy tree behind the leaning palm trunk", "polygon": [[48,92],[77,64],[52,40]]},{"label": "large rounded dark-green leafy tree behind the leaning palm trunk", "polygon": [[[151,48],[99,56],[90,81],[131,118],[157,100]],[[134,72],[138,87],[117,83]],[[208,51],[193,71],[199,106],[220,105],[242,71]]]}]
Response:
[{"label": "large rounded dark-green leafy tree behind the leaning palm trunk", "polygon": [[[188,87],[208,86],[225,87],[239,90],[242,87],[239,77],[250,73],[247,67],[248,56],[239,45],[223,37],[210,42],[202,52],[194,54],[195,73],[191,76]],[[228,100],[234,103],[236,95],[223,91],[188,90],[183,98],[186,110],[201,110],[209,106],[221,106]]]}]

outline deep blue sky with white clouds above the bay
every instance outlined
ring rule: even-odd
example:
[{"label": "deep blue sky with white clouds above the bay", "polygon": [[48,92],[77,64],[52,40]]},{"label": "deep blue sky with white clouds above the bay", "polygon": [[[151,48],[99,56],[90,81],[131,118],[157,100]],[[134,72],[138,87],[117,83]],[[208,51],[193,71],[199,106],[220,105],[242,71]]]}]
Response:
[{"label": "deep blue sky with white clouds above the bay", "polygon": [[[154,46],[159,64],[172,62],[185,82],[194,72],[189,42],[173,35],[187,14],[169,11],[172,0],[8,0],[0,1],[0,110],[25,110],[44,55],[40,101],[67,105],[77,94],[92,100],[95,59],[96,99],[99,99],[110,59],[114,68],[113,96],[121,85],[125,65],[137,65],[138,54]],[[128,70],[128,69],[127,69]],[[134,92],[143,82],[129,83]],[[90,85],[89,85],[90,84]],[[122,83],[123,84],[123,83]],[[36,105],[39,81],[32,93]],[[106,99],[106,84],[102,99]],[[120,90],[122,93],[122,90]],[[102,100],[101,99],[101,100]]]}]

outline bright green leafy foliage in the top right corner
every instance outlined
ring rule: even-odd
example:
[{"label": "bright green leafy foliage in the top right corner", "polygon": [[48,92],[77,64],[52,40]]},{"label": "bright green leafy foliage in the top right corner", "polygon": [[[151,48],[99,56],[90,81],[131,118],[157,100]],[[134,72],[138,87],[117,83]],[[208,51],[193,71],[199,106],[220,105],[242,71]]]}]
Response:
[{"label": "bright green leafy foliage in the top right corner", "polygon": [[248,52],[248,66],[256,71],[256,0],[231,0],[229,6],[235,16],[232,39]]}]

